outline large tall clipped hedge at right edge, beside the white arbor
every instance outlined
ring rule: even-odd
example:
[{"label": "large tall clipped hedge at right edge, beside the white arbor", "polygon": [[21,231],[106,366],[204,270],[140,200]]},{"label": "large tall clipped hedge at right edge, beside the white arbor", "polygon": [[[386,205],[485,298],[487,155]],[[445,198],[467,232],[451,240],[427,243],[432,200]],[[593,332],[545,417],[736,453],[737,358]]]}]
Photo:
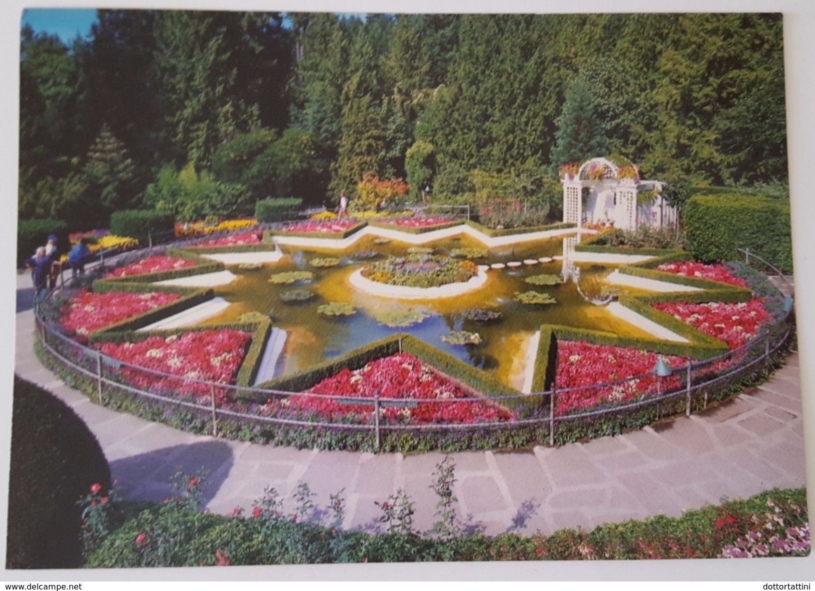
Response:
[{"label": "large tall clipped hedge at right edge, beside the white arbor", "polygon": [[685,243],[697,260],[742,258],[737,247],[792,270],[790,204],[755,195],[695,195],[682,213]]}]

